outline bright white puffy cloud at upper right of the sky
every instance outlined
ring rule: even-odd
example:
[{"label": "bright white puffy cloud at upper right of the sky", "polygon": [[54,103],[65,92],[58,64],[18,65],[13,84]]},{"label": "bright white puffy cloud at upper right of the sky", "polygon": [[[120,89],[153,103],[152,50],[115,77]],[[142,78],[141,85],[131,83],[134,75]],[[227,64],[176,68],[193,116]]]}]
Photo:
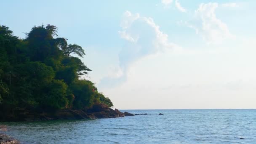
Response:
[{"label": "bright white puffy cloud at upper right of the sky", "polygon": [[233,37],[227,24],[216,18],[215,10],[218,7],[218,3],[202,3],[195,11],[194,21],[186,23],[188,27],[195,29],[207,43],[221,43]]}]

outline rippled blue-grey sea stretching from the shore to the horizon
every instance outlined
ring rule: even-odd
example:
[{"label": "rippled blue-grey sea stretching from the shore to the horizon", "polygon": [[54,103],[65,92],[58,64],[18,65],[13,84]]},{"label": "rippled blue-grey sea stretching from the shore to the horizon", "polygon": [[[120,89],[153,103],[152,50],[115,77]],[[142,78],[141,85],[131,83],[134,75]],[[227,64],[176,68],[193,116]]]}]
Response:
[{"label": "rippled blue-grey sea stretching from the shore to the horizon", "polygon": [[256,144],[256,109],[121,111],[148,115],[4,123],[5,133],[21,144]]}]

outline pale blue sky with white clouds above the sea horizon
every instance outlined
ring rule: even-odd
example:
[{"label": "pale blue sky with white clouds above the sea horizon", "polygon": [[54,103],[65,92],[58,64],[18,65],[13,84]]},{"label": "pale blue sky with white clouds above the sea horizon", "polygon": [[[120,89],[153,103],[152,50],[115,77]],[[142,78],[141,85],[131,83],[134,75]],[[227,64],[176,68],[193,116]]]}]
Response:
[{"label": "pale blue sky with white clouds above the sea horizon", "polygon": [[255,0],[4,0],[24,38],[51,24],[84,48],[117,109],[255,109]]}]

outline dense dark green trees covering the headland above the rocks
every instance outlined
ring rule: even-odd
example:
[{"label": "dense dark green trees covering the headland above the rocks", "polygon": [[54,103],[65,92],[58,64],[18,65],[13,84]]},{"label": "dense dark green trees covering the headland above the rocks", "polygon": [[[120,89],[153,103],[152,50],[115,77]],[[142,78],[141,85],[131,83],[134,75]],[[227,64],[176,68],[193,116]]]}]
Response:
[{"label": "dense dark green trees covering the headland above the rocks", "polygon": [[81,79],[91,71],[74,56],[83,57],[79,45],[58,37],[52,25],[33,27],[25,39],[0,26],[0,115],[13,110],[51,112],[113,104],[93,82]]}]

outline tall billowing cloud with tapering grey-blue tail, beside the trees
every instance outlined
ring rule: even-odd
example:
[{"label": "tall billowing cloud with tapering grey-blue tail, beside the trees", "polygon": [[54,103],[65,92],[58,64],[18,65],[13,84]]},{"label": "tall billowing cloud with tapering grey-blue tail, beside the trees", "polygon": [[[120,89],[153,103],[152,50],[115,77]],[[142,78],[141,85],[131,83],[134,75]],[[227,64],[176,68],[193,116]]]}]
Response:
[{"label": "tall billowing cloud with tapering grey-blue tail, beside the trees", "polygon": [[[127,72],[133,62],[176,45],[168,41],[168,35],[160,31],[152,18],[126,11],[121,20],[120,37],[125,40],[118,59],[118,77],[105,77],[101,84],[113,86],[126,80]],[[111,83],[111,84],[110,84]]]}]

